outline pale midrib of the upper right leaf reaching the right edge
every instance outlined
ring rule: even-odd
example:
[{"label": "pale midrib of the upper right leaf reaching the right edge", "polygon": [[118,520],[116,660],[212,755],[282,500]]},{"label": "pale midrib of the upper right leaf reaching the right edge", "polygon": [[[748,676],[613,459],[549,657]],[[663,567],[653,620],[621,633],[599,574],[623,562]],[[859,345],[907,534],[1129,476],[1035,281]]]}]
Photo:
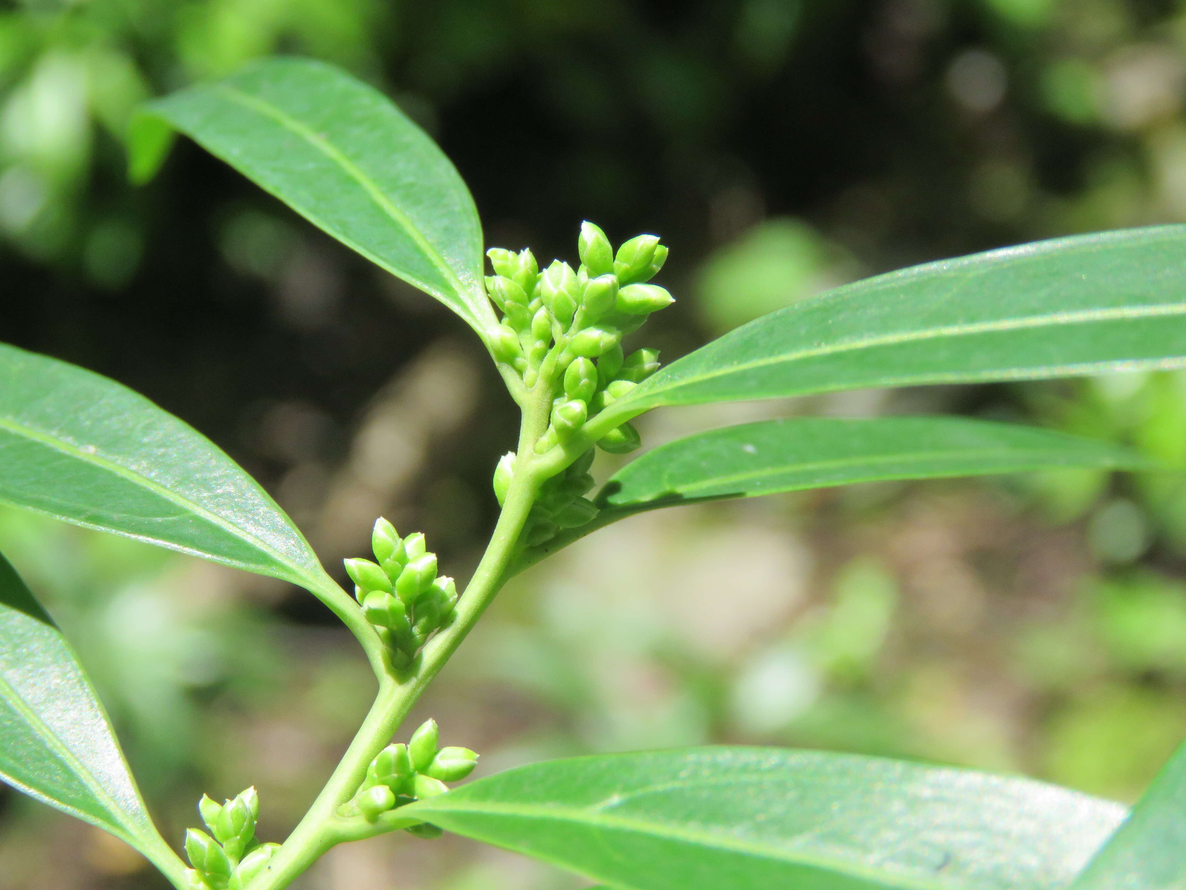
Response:
[{"label": "pale midrib of the upper right leaf reaching the right edge", "polygon": [[[646,401],[650,400],[652,396],[658,395],[661,393],[665,393],[670,389],[677,389],[694,383],[702,383],[731,374],[740,374],[747,370],[754,370],[757,368],[764,368],[771,364],[795,362],[795,361],[801,361],[803,358],[818,358],[821,356],[850,352],[857,349],[871,349],[874,347],[888,347],[888,345],[897,345],[900,343],[924,342],[927,339],[937,339],[939,337],[959,337],[975,333],[995,333],[1002,331],[1022,330],[1027,328],[1044,328],[1044,326],[1052,326],[1054,324],[1067,324],[1067,325],[1090,324],[1093,322],[1158,318],[1162,316],[1181,316],[1181,314],[1186,314],[1186,304],[1184,303],[1155,304],[1155,305],[1149,304],[1143,306],[1118,306],[1112,309],[1082,310],[1077,312],[1052,312],[1047,314],[1028,316],[1024,318],[1002,318],[993,322],[975,322],[975,323],[958,324],[958,325],[942,325],[938,328],[927,328],[919,331],[886,333],[874,337],[865,337],[861,339],[848,341],[844,343],[834,343],[830,345],[815,347],[812,349],[801,349],[798,351],[784,352],[776,356],[766,356],[764,358],[753,358],[748,362],[731,364],[728,367],[720,368],[718,370],[701,371],[699,374],[693,374],[688,377],[682,377],[682,379],[677,377],[674,379],[671,382],[656,386],[655,388],[644,389],[644,387],[639,387],[639,389],[643,392],[636,389],[629,396],[619,399],[616,402],[616,406],[621,405],[623,402],[629,402],[635,400]],[[718,341],[718,343],[720,343],[720,341]]]}]

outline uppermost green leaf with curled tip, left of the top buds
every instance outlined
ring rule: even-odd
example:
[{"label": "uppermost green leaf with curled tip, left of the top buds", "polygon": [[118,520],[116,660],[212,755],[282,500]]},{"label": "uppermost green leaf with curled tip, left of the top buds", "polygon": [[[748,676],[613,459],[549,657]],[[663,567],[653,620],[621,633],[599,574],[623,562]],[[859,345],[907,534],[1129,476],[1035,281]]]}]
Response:
[{"label": "uppermost green leaf with curled tip, left of the top buds", "polygon": [[[158,100],[148,114],[479,333],[495,324],[470,191],[436,144],[374,88],[320,62],[273,58]],[[168,142],[144,120],[133,135],[132,170],[145,178]]]}]

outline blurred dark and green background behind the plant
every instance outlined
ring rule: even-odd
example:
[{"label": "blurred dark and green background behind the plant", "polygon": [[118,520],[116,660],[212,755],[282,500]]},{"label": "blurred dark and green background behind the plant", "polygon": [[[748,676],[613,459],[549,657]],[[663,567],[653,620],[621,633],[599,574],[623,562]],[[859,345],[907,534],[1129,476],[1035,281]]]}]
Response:
[{"label": "blurred dark and green background behind the plant", "polygon": [[[107,374],[230,452],[333,568],[384,514],[464,578],[511,403],[464,324],[181,142],[144,100],[267,53],[376,84],[470,183],[487,241],[662,234],[668,361],[881,271],[1186,221],[1179,0],[0,2],[0,339]],[[653,329],[653,330],[651,330]],[[958,412],[1186,469],[1186,375],[656,412],[657,444],[774,415]],[[599,458],[595,472],[613,463]],[[1020,771],[1130,801],[1186,735],[1186,491],[1166,472],[875,484],[636,517],[515,580],[413,716],[535,758],[712,742]],[[311,596],[0,509],[166,837],[202,792],[296,821],[372,680]],[[414,724],[413,724],[414,725]],[[333,851],[306,890],[562,890],[457,838]],[[0,889],[164,888],[0,795]]]}]

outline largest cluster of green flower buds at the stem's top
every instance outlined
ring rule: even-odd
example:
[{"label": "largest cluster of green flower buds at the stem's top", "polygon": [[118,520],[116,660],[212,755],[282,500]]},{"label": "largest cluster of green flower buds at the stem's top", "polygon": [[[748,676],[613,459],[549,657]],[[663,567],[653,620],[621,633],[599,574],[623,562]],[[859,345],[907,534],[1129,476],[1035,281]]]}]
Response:
[{"label": "largest cluster of green flower buds at the stem's top", "polygon": [[[546,367],[549,371],[554,400],[548,431],[535,446],[538,453],[658,370],[657,351],[626,356],[621,338],[674,303],[664,288],[646,284],[668,255],[655,235],[638,235],[614,254],[605,233],[585,222],[578,250],[581,265],[575,272],[556,260],[542,273],[530,250],[486,252],[495,268],[486,288],[503,313],[490,333],[495,357],[518,371],[528,388]],[[549,356],[555,361],[546,365]],[[630,424],[598,443],[613,453],[633,451],[638,444]]]}]

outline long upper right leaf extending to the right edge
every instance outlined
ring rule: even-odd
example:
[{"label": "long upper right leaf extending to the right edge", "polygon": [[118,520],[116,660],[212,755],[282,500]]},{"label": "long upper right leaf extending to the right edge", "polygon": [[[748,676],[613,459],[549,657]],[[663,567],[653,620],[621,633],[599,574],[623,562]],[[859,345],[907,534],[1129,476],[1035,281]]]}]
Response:
[{"label": "long upper right leaf extending to the right edge", "polygon": [[1186,364],[1186,225],[1057,239],[879,275],[672,362],[598,428],[661,405]]}]

